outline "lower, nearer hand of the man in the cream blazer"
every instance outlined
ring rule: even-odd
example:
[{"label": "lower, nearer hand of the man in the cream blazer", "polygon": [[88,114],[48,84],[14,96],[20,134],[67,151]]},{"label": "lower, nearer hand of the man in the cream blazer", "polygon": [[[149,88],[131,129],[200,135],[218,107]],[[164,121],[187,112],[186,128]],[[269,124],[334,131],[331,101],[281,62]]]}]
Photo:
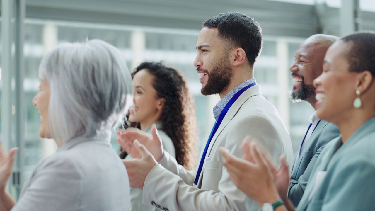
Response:
[{"label": "lower, nearer hand of the man in the cream blazer", "polygon": [[141,159],[123,160],[129,176],[130,187],[143,189],[144,181],[151,169],[157,165],[155,158],[147,151],[144,145],[135,140],[133,150],[139,152]]}]

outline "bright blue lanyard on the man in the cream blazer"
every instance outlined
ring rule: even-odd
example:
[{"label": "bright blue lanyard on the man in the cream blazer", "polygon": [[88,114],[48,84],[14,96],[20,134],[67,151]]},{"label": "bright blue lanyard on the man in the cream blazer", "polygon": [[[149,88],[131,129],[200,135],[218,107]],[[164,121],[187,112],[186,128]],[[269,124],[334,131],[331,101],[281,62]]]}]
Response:
[{"label": "bright blue lanyard on the man in the cream blazer", "polygon": [[211,143],[212,137],[214,136],[214,134],[216,133],[217,129],[219,128],[219,126],[220,126],[221,122],[223,121],[223,119],[224,119],[226,113],[228,112],[229,108],[232,106],[232,104],[234,103],[234,101],[236,101],[236,99],[238,99],[239,96],[243,92],[245,92],[247,89],[249,89],[250,87],[252,87],[252,86],[254,86],[256,84],[257,83],[254,82],[254,83],[251,83],[248,86],[245,86],[242,89],[240,89],[236,94],[233,95],[233,97],[229,100],[229,102],[225,105],[224,109],[221,111],[220,116],[217,119],[217,122],[215,122],[215,124],[213,125],[210,137],[208,138],[207,144],[206,144],[206,146],[204,148],[204,151],[203,151],[203,154],[202,154],[202,157],[201,157],[201,162],[199,163],[198,171],[196,172],[196,176],[195,176],[195,180],[194,180],[194,185],[198,184],[199,176],[201,175],[201,172],[202,172],[202,167],[203,167],[204,159],[206,157],[207,149],[208,149],[208,146]]}]

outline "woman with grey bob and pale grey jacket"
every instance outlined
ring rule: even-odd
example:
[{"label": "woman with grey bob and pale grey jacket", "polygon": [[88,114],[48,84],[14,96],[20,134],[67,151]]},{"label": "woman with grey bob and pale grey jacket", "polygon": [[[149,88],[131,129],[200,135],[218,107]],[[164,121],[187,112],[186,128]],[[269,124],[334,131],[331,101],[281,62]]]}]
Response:
[{"label": "woman with grey bob and pale grey jacket", "polygon": [[1,150],[0,210],[129,210],[126,169],[110,144],[132,102],[120,51],[100,40],[61,44],[42,59],[39,77],[39,135],[58,150],[39,163],[17,204],[5,189],[17,149]]}]

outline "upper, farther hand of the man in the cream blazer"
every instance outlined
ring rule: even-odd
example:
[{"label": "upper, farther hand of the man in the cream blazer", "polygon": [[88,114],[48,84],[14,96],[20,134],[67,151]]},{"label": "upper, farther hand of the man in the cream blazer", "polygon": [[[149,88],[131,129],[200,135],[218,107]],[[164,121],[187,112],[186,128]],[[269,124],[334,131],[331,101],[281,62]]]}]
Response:
[{"label": "upper, farther hand of the man in the cream blazer", "polygon": [[126,130],[117,130],[117,142],[120,146],[130,154],[133,158],[141,158],[138,150],[134,150],[133,142],[138,140],[139,143],[145,146],[145,148],[153,155],[156,160],[160,160],[163,157],[164,149],[162,145],[162,139],[156,130],[156,125],[153,124],[151,127],[151,134],[139,130],[138,128],[127,128]]}]

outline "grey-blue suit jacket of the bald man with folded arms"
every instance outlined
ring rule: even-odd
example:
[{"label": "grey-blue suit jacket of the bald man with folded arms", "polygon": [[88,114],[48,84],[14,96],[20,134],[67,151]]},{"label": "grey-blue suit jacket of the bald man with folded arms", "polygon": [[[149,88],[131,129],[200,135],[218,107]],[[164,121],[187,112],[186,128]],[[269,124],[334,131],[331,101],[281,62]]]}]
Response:
[{"label": "grey-blue suit jacket of the bald man with folded arms", "polygon": [[311,171],[314,168],[318,156],[320,155],[324,146],[326,146],[326,144],[331,140],[337,138],[339,135],[340,130],[333,123],[320,120],[318,125],[315,127],[310,136],[309,142],[303,148],[301,156],[296,163],[296,169],[292,172],[290,177],[288,197],[293,202],[294,206],[297,206],[300,202],[311,175]]}]

